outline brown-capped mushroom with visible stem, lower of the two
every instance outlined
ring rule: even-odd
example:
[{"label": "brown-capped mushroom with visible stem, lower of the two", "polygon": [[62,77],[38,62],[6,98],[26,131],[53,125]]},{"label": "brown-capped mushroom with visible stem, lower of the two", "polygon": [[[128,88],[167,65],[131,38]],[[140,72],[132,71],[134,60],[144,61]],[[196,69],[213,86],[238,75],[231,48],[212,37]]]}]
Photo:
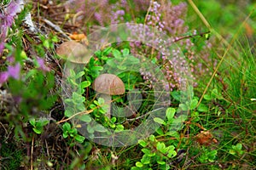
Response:
[{"label": "brown-capped mushroom with visible stem, lower of the two", "polygon": [[92,84],[92,88],[97,94],[100,94],[101,98],[104,99],[105,104],[108,105],[106,116],[110,118],[111,95],[125,94],[124,82],[113,74],[102,74],[99,77],[96,77],[96,80]]}]

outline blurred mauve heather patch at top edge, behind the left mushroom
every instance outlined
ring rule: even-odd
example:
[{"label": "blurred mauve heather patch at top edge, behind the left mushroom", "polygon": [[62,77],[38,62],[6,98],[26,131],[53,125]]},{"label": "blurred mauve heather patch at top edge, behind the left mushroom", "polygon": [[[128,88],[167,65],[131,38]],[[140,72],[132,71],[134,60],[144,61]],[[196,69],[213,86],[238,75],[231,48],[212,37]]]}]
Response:
[{"label": "blurred mauve heather patch at top edge, behind the left mushroom", "polygon": [[[143,13],[148,8],[149,1],[83,1],[70,0],[65,3],[68,10],[73,10],[78,14],[77,24],[84,25],[90,22],[96,26],[109,26],[119,24],[125,21],[131,21],[137,16],[143,18]],[[86,10],[84,10],[86,9]],[[133,15],[131,15],[133,11]],[[136,19],[136,20],[137,20]]]}]

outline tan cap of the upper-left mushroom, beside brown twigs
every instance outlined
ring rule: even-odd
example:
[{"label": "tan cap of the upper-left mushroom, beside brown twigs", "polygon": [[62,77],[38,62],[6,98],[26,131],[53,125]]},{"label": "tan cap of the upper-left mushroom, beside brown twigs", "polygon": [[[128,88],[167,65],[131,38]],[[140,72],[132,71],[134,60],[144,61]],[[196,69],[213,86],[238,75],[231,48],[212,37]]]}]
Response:
[{"label": "tan cap of the upper-left mushroom, beside brown twigs", "polygon": [[89,50],[75,41],[61,43],[60,47],[56,48],[56,54],[62,59],[68,59],[73,63],[85,64],[90,60]]}]

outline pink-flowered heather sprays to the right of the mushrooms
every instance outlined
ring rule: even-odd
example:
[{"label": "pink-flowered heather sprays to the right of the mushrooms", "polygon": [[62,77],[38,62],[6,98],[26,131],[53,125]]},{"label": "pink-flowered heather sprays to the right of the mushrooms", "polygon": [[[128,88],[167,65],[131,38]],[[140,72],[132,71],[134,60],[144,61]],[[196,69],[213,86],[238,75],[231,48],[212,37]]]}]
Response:
[{"label": "pink-flowered heather sprays to the right of the mushrooms", "polygon": [[[144,44],[141,42],[131,42],[131,52],[133,54],[139,54],[143,48],[143,53],[146,53],[148,58],[162,66],[162,71],[167,80],[165,85],[166,90],[172,91],[180,88],[181,82],[184,81],[183,74],[186,74],[186,77],[189,78],[190,81],[195,81],[195,77],[199,78],[201,74],[207,74],[201,63],[195,62],[195,53],[197,55],[203,55],[207,61],[210,61],[211,59],[208,58],[209,54],[207,54],[207,48],[210,47],[210,45],[202,48],[202,52],[195,51],[195,44],[191,39],[200,38],[203,34],[198,34],[196,31],[192,34],[188,34],[188,26],[186,26],[185,22],[182,20],[183,15],[186,14],[186,4],[160,4],[154,1],[151,1],[150,4],[145,18],[145,25],[141,25],[140,28],[135,28],[127,23],[127,26],[131,27],[131,30],[134,30],[132,32],[135,32],[137,37],[143,38],[143,35],[140,34],[144,32],[148,40],[154,39],[154,46],[159,47],[159,50],[144,48]],[[168,8],[168,10],[166,8]],[[153,30],[155,29],[162,34],[170,36],[170,38],[167,40],[159,39],[157,33],[150,34],[150,27],[152,27]],[[188,65],[186,65],[187,63]],[[190,71],[192,74],[190,74]],[[150,80],[164,82],[164,80],[158,80],[157,77],[152,77],[152,72],[145,72],[142,69],[141,73],[146,82],[150,82]],[[194,85],[196,85],[196,81]]]}]

